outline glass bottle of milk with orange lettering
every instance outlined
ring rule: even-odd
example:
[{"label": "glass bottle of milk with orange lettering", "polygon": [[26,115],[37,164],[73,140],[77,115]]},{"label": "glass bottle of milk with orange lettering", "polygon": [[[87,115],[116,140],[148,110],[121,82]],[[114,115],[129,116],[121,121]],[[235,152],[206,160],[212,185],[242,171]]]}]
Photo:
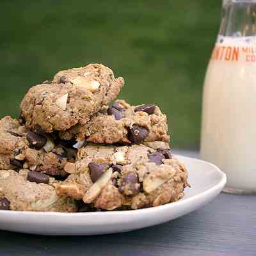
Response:
[{"label": "glass bottle of milk with orange lettering", "polygon": [[224,0],[204,83],[200,156],[228,193],[256,193],[256,1]]}]

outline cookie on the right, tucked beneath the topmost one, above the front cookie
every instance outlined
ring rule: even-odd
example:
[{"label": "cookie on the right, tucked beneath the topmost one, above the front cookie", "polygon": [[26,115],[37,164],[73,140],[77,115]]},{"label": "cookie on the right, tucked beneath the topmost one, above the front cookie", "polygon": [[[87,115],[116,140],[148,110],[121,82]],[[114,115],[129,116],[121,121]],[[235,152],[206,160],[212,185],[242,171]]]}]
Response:
[{"label": "cookie on the right, tucked beneath the topmost one, above the front cookie", "polygon": [[131,106],[117,100],[109,108],[102,109],[84,125],[60,132],[60,137],[93,143],[136,143],[144,141],[169,142],[166,115],[153,104]]}]

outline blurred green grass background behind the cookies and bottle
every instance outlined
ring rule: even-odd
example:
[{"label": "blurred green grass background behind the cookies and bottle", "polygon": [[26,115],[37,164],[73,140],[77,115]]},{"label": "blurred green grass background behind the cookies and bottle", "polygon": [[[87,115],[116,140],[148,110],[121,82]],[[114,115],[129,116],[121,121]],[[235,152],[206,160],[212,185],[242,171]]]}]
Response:
[{"label": "blurred green grass background behind the cookies and bottle", "polygon": [[220,0],[1,0],[1,117],[19,116],[28,88],[58,70],[104,63],[125,79],[120,98],[157,104],[173,147],[196,149],[220,8]]}]

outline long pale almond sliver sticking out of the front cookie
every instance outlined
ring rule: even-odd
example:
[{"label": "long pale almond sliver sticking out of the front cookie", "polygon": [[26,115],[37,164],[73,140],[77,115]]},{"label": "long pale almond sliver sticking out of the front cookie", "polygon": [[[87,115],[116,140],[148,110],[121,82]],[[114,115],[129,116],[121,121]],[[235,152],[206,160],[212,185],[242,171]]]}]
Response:
[{"label": "long pale almond sliver sticking out of the front cookie", "polygon": [[92,187],[85,193],[83,196],[83,201],[86,204],[90,204],[95,200],[99,195],[102,189],[108,184],[111,180],[113,170],[109,168],[104,172],[99,179],[92,185]]}]

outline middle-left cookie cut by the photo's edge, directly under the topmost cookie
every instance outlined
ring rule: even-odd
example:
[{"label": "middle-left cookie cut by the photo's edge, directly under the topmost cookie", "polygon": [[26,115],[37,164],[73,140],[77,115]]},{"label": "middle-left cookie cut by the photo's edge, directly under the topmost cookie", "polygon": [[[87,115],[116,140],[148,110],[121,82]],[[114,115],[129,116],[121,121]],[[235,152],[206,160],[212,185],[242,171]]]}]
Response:
[{"label": "middle-left cookie cut by the photo's edge, directly under the topmost cookie", "polygon": [[29,168],[50,175],[67,176],[63,167],[76,159],[76,151],[56,143],[52,135],[31,132],[10,116],[2,118],[0,170]]}]

